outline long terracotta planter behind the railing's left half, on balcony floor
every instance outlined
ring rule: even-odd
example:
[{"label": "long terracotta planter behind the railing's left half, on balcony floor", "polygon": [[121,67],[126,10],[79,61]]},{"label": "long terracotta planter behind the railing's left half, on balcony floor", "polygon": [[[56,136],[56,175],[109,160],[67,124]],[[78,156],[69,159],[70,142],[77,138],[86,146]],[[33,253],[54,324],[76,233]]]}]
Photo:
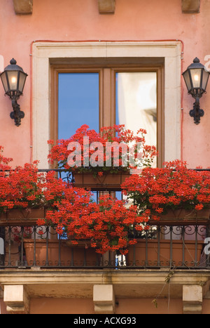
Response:
[{"label": "long terracotta planter behind the railing's left half, on balcony floor", "polygon": [[[100,256],[93,248],[85,248],[84,242],[78,245],[67,244],[66,241],[58,240],[34,240],[25,239],[24,248],[27,265],[47,266],[47,267],[83,267],[99,265]],[[34,254],[36,256],[34,263]],[[47,256],[48,254],[48,256]]]}]

